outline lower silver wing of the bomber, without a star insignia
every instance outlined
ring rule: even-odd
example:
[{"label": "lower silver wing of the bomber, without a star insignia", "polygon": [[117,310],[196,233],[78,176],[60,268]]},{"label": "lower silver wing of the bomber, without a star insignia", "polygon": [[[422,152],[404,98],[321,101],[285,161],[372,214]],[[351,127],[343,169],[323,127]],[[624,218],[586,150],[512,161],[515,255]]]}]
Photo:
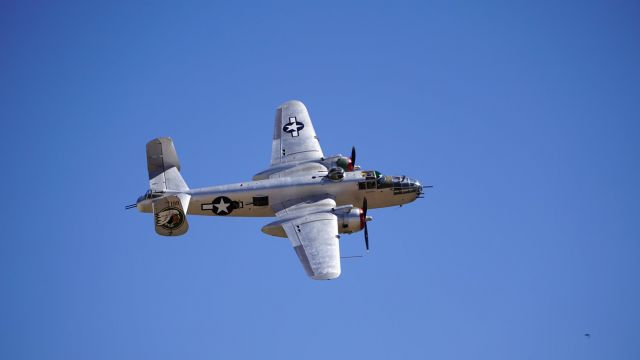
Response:
[{"label": "lower silver wing of the bomber, without a star insignia", "polygon": [[340,276],[340,237],[336,206],[329,198],[283,208],[277,216],[304,270],[314,280]]}]

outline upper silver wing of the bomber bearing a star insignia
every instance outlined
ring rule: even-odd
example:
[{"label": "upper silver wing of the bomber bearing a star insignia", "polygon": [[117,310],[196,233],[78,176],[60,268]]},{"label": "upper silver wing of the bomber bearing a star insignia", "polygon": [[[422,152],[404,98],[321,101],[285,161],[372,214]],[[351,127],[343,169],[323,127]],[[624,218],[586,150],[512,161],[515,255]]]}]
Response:
[{"label": "upper silver wing of the bomber bearing a star insignia", "polygon": [[271,146],[271,166],[320,160],[324,155],[313,129],[309,112],[297,100],[287,101],[276,109]]}]

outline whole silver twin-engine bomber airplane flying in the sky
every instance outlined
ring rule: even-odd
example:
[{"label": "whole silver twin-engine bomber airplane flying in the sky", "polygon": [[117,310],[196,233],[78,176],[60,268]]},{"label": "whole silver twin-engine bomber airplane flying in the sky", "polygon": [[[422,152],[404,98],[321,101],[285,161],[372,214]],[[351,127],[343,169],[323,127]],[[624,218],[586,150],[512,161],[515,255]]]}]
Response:
[{"label": "whole silver twin-engine bomber airplane flying in the sky", "polygon": [[403,205],[423,187],[406,176],[364,171],[351,156],[325,157],[306,106],[287,101],[276,109],[271,165],[251,181],[190,189],[168,137],[147,143],[149,190],[135,204],[154,214],[156,233],[183,235],[187,214],[276,217],[265,234],[288,238],[305,272],[314,280],[340,276],[340,234],[364,230],[369,251],[368,209]]}]

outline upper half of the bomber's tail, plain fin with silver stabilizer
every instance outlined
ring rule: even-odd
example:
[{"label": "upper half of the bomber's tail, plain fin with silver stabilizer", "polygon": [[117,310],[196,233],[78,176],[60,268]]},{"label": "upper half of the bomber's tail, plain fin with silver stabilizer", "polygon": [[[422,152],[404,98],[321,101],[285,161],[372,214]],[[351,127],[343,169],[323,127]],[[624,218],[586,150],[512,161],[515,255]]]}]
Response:
[{"label": "upper half of the bomber's tail, plain fin with silver stabilizer", "polygon": [[180,161],[171,138],[157,138],[147,143],[147,168],[151,191],[189,190],[180,175]]}]

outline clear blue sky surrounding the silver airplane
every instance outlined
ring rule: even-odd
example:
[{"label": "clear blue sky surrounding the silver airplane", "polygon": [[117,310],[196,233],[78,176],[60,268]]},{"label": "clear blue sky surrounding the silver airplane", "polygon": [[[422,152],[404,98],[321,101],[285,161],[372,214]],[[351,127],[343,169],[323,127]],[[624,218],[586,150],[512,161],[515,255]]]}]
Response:
[{"label": "clear blue sky surrounding the silver airplane", "polygon": [[[3,359],[640,358],[633,1],[0,5]],[[124,211],[144,146],[191,187],[327,154],[433,184],[309,280],[268,219]],[[362,254],[362,234],[343,237]],[[583,334],[591,333],[591,338]]]}]

